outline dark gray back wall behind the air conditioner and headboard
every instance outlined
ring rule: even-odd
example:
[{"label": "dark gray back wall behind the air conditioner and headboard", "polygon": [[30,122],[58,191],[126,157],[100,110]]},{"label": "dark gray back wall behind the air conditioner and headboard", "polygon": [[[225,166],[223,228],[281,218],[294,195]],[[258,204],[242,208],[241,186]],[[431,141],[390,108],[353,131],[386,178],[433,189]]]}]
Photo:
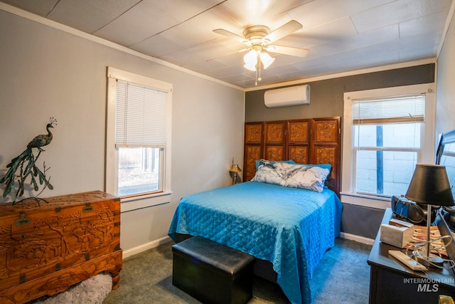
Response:
[{"label": "dark gray back wall behind the air conditioner and headboard", "polygon": [[[309,82],[306,84],[311,88],[310,104],[285,108],[266,108],[265,90],[247,92],[245,122],[331,116],[340,116],[343,120],[343,93],[434,83],[434,73],[435,65],[426,64]],[[344,204],[341,229],[348,234],[375,239],[383,214],[384,211],[380,209]]]}]

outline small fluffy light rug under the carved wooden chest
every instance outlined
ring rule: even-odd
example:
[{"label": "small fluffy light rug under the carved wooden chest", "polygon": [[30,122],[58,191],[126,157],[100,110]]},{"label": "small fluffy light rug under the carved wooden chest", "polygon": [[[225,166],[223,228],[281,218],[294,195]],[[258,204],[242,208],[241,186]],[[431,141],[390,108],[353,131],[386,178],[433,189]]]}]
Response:
[{"label": "small fluffy light rug under the carved wooden chest", "polygon": [[100,273],[82,281],[63,293],[53,297],[43,297],[33,304],[102,304],[112,290],[112,277],[109,273]]}]

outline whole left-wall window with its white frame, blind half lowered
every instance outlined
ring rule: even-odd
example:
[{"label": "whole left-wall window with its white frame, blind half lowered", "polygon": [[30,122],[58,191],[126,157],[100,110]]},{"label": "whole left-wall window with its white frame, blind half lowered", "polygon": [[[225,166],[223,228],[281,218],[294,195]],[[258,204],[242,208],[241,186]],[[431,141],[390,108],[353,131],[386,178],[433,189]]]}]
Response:
[{"label": "whole left-wall window with its white frame, blind half lowered", "polygon": [[172,86],[114,68],[107,77],[107,192],[122,202],[168,193]]}]

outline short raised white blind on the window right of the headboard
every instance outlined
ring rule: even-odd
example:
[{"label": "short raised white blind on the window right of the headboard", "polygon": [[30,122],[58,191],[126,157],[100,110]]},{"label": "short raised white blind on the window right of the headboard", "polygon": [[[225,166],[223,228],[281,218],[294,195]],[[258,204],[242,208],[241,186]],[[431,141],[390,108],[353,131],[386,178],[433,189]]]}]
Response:
[{"label": "short raised white blind on the window right of the headboard", "polygon": [[423,122],[425,96],[400,96],[375,100],[354,100],[353,124]]}]

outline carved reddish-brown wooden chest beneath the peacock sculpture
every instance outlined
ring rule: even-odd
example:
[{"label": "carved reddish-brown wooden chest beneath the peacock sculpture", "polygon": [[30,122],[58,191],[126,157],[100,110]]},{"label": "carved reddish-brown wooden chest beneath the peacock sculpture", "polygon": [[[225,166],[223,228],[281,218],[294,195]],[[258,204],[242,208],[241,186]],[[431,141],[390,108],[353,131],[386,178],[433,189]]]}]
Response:
[{"label": "carved reddish-brown wooden chest beneath the peacock sculpture", "polygon": [[0,204],[0,303],[55,295],[103,271],[118,288],[120,200],[85,192],[45,201]]}]

